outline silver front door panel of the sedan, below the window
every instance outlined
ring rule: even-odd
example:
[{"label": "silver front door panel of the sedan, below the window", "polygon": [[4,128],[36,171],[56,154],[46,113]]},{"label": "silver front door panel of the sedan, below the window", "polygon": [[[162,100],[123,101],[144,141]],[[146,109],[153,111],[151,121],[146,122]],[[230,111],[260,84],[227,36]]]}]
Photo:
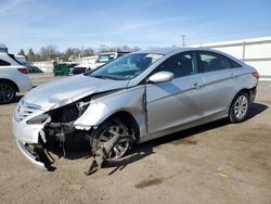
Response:
[{"label": "silver front door panel of the sedan, below the window", "polygon": [[191,123],[203,115],[201,103],[204,95],[194,87],[196,82],[203,84],[203,78],[189,76],[146,86],[150,133]]}]

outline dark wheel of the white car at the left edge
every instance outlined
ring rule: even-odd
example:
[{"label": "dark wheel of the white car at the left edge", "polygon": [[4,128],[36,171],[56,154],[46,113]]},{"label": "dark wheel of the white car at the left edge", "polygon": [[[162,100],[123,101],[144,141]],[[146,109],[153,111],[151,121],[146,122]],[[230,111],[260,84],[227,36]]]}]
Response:
[{"label": "dark wheel of the white car at the left edge", "polygon": [[11,103],[16,97],[16,89],[7,81],[0,81],[0,104]]}]

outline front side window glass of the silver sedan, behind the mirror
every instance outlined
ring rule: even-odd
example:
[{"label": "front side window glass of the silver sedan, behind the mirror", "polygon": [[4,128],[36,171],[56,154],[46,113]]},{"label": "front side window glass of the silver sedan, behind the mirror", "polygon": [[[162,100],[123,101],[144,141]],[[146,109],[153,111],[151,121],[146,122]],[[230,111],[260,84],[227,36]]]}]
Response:
[{"label": "front side window glass of the silver sedan, behind the mirror", "polygon": [[166,71],[173,73],[175,78],[195,74],[195,61],[193,53],[179,53],[163,62],[155,73]]}]

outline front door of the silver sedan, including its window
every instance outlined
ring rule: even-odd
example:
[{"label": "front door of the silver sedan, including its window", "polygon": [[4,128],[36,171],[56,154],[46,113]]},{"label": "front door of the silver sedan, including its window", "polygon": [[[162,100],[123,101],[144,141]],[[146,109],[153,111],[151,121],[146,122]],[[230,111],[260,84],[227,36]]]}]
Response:
[{"label": "front door of the silver sedan, including its window", "polygon": [[146,85],[149,133],[186,125],[203,116],[203,78],[196,75],[195,53],[185,52],[169,58],[154,73],[162,71],[171,72],[175,77],[168,82]]}]

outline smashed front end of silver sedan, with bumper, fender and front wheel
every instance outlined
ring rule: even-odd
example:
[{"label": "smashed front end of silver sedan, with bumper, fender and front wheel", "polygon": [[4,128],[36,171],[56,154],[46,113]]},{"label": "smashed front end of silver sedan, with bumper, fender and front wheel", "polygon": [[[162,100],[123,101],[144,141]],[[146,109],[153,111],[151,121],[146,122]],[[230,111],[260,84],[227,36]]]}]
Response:
[{"label": "smashed front end of silver sedan, with bumper, fender and front wheel", "polygon": [[121,157],[139,132],[146,132],[143,99],[143,87],[92,92],[42,107],[27,103],[26,95],[14,112],[13,132],[22,153],[42,169],[53,170],[51,152],[65,157],[66,151],[88,150],[94,164],[89,175],[105,161]]}]

